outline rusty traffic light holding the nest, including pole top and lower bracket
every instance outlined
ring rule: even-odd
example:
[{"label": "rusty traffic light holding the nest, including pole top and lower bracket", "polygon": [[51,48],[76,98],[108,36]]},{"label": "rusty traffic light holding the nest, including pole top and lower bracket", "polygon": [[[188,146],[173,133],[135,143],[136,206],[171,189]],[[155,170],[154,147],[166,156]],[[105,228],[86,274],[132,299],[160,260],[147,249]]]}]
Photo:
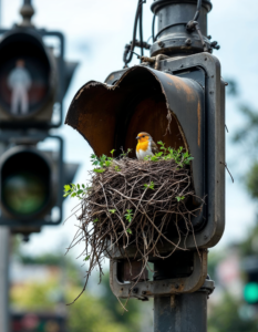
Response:
[{"label": "rusty traffic light holding the nest, including pole top and lower bracket", "polygon": [[[145,281],[132,292],[133,280],[143,269],[136,245],[126,249],[113,246],[109,252],[111,287],[121,298],[131,294],[144,300],[194,292],[204,282],[209,284],[205,289],[214,288],[213,281],[206,280],[207,248],[217,245],[225,227],[226,84],[220,63],[211,55],[213,49],[218,49],[217,42],[207,38],[211,3],[203,1],[200,6],[202,1],[196,0],[154,1],[158,32],[153,33],[151,56],[138,56],[141,64],[131,69],[125,61],[125,69],[111,73],[104,83],[90,81],[83,85],[66,115],[65,123],[89,142],[97,156],[110,155],[112,149],[118,156],[121,146],[124,151],[134,148],[137,134],[147,132],[155,142],[162,139],[173,148],[183,146],[194,157],[192,185],[200,199],[193,199],[192,211],[202,209],[192,214],[190,234],[184,237],[171,231],[166,234],[171,243],[159,248],[164,256],[175,249],[172,243],[186,251],[178,250],[167,259],[149,253],[148,261],[158,272],[153,281],[145,273]],[[133,52],[135,41],[131,45]],[[127,258],[132,266],[126,263]]]}]

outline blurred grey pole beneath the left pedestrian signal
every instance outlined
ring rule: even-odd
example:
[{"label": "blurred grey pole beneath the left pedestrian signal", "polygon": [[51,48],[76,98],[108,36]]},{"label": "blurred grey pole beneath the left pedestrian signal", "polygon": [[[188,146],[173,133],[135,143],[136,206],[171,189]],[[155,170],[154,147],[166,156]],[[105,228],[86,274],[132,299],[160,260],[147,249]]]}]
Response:
[{"label": "blurred grey pole beneath the left pedestrian signal", "polygon": [[9,332],[9,252],[10,229],[0,227],[0,331]]}]

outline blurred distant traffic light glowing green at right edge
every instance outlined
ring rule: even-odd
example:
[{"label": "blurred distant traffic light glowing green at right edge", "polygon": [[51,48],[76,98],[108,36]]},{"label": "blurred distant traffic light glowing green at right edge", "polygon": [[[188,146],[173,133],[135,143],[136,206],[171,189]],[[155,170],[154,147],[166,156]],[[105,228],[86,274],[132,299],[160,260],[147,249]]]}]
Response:
[{"label": "blurred distant traffic light glowing green at right edge", "polygon": [[246,274],[244,300],[248,304],[258,304],[258,259],[251,256],[245,258],[242,269]]}]

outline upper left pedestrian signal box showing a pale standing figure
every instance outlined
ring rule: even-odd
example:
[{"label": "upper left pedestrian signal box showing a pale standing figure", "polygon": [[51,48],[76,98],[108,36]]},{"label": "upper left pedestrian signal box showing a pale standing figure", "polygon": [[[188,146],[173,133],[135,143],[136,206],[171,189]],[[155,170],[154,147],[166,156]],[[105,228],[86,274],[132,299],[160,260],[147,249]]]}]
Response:
[{"label": "upper left pedestrian signal box showing a pale standing figure", "polygon": [[[62,34],[33,29],[0,32],[0,127],[59,126],[65,84]],[[60,40],[60,56],[43,42],[48,35]]]}]

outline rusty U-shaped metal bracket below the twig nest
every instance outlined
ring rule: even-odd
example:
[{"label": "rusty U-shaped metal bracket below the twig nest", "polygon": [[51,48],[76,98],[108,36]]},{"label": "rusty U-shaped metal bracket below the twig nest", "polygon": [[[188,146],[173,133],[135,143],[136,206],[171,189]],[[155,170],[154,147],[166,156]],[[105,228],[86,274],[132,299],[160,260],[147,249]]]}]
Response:
[{"label": "rusty U-shaped metal bracket below the twig nest", "polygon": [[[138,282],[134,290],[134,282],[122,282],[118,278],[118,261],[111,260],[110,284],[113,293],[118,298],[152,298],[171,294],[189,293],[198,290],[205,282],[207,276],[207,250],[194,252],[193,273],[186,278],[171,278],[155,281]],[[132,292],[131,292],[132,290]]]}]

